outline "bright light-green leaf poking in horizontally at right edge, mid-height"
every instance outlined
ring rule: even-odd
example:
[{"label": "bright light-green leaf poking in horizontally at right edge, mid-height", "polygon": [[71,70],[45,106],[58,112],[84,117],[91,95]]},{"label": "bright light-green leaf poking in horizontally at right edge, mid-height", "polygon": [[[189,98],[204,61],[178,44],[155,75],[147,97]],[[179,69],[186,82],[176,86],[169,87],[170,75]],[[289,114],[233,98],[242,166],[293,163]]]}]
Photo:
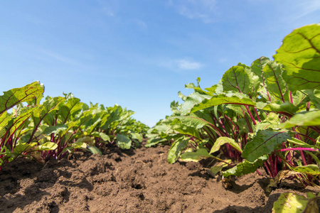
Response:
[{"label": "bright light-green leaf poking in horizontally at right edge, mid-height", "polygon": [[279,128],[290,128],[293,126],[320,126],[320,110],[304,111],[292,116],[289,121],[279,125]]}]

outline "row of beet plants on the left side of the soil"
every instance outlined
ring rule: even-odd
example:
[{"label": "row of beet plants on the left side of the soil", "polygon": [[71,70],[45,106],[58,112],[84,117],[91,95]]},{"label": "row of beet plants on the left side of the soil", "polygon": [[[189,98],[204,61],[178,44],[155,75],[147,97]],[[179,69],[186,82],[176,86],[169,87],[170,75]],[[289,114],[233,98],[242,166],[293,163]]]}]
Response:
[{"label": "row of beet plants on the left side of the soil", "polygon": [[0,97],[0,166],[19,156],[61,158],[75,149],[101,154],[107,144],[129,149],[148,129],[120,106],[88,106],[71,93],[40,104],[43,92],[43,84],[33,82]]}]

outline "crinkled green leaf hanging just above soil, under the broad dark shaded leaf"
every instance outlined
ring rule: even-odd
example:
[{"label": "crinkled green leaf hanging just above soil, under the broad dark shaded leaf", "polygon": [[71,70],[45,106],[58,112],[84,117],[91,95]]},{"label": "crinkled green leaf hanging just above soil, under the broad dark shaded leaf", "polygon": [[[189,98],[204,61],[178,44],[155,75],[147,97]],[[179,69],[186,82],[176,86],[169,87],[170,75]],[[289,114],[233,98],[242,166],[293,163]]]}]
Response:
[{"label": "crinkled green leaf hanging just above soil, under the broad dark shaded leaf", "polygon": [[254,160],[253,162],[249,162],[248,160],[242,160],[242,162],[238,163],[238,165],[234,166],[233,168],[230,168],[229,170],[224,171],[223,176],[227,178],[230,175],[241,176],[249,173],[254,173],[257,170],[257,168],[262,166],[262,164],[267,159],[267,155],[263,155],[260,158]]}]

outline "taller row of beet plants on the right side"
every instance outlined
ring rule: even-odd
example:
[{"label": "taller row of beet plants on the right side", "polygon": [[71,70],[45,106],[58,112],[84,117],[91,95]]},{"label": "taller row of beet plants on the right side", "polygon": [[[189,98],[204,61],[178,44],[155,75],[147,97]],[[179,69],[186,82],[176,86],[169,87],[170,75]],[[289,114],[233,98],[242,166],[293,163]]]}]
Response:
[{"label": "taller row of beet plants on the right side", "polygon": [[[224,177],[263,166],[275,178],[319,185],[320,25],[294,30],[274,55],[239,63],[218,84],[194,90],[173,114],[149,130],[147,146],[171,141],[169,163],[220,160]],[[221,157],[222,156],[222,157]],[[228,168],[228,170],[225,170]],[[278,175],[279,176],[279,175]]]}]

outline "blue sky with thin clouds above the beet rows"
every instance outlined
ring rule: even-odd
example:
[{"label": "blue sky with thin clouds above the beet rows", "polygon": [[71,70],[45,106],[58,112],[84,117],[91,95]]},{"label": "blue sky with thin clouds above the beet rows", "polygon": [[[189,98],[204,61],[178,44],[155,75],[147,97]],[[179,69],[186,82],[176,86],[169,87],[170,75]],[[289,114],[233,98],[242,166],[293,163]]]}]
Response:
[{"label": "blue sky with thin clouds above the beet rows", "polygon": [[210,87],[319,21],[319,0],[0,1],[0,88],[38,80],[153,126],[196,77]]}]

